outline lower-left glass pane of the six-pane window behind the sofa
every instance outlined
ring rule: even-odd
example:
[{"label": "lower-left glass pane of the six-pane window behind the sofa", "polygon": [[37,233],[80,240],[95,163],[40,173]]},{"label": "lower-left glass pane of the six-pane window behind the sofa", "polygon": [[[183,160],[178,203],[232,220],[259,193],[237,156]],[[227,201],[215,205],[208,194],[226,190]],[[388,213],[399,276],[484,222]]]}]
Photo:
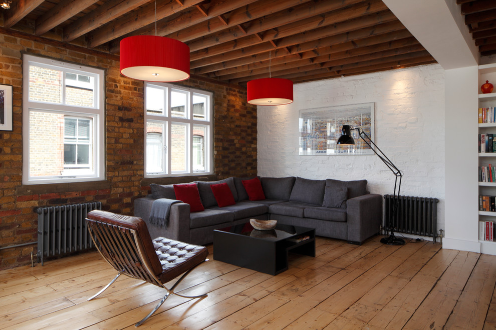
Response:
[{"label": "lower-left glass pane of the six-pane window behind the sofa", "polygon": [[146,173],[165,172],[164,124],[156,121],[146,123]]}]

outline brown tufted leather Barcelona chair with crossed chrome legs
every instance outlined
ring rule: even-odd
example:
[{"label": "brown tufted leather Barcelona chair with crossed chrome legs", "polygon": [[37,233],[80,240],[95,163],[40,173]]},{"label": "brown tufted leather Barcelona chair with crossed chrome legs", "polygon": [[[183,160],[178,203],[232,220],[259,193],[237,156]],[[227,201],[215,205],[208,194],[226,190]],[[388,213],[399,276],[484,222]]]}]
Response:
[{"label": "brown tufted leather Barcelona chair with crossed chrome legs", "polygon": [[[164,287],[165,296],[135,326],[148,319],[170,294],[185,298],[199,298],[206,294],[187,296],[174,292],[177,284],[197,265],[206,261],[206,247],[183,243],[164,237],[150,238],[146,223],[139,217],[115,214],[102,210],[88,212],[86,221],[91,238],[98,251],[118,274],[91,300],[105,291],[121,274],[139,278],[149,283]],[[172,286],[165,283],[183,274]]]}]

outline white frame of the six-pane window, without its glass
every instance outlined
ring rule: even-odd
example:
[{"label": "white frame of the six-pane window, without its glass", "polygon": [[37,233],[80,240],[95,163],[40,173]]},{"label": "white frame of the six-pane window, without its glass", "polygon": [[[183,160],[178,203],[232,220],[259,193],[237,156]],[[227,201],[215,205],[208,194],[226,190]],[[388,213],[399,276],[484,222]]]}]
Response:
[{"label": "white frame of the six-pane window, without its glass", "polygon": [[[146,97],[147,97],[147,87],[163,88],[165,92],[164,97],[164,113],[147,113],[146,111]],[[187,93],[189,103],[186,104],[185,118],[173,116],[171,111],[171,90],[180,91]],[[193,94],[203,95],[207,98],[207,106],[205,109],[205,118],[195,119],[193,116]],[[212,113],[212,103],[213,103],[213,93],[201,89],[184,87],[180,85],[175,85],[165,82],[145,82],[145,100],[144,100],[144,116],[145,116],[145,129],[144,129],[144,177],[167,177],[167,176],[187,176],[187,175],[202,175],[202,174],[212,174],[213,173],[213,113]],[[146,155],[146,134],[147,134],[147,122],[158,121],[163,122],[166,130],[162,134],[162,139],[164,143],[164,157],[162,168],[164,171],[161,173],[148,173],[147,168],[147,155]],[[172,157],[170,156],[169,150],[171,150],[171,134],[172,134],[172,124],[179,123],[187,125],[187,156],[186,156],[186,170],[184,171],[172,171]],[[193,127],[194,125],[206,126],[205,139],[205,170],[195,171],[193,164]]]}]

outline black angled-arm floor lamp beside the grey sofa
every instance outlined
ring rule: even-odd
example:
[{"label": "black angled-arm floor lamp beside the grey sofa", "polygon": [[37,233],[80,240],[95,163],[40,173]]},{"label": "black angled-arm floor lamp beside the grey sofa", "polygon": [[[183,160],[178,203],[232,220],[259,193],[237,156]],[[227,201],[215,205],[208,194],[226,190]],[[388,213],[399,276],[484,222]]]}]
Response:
[{"label": "black angled-arm floor lamp beside the grey sofa", "polygon": [[[362,128],[360,127],[351,127],[350,125],[343,125],[343,130],[341,131],[341,136],[338,139],[337,144],[341,145],[352,145],[355,144],[355,140],[351,136],[352,130],[358,130],[358,136],[362,138],[362,140],[374,151],[374,153],[386,164],[386,166],[394,173],[394,191],[393,191],[393,211],[389,215],[388,219],[388,229],[391,231],[391,234],[387,237],[381,238],[381,242],[389,245],[403,245],[405,240],[402,238],[397,238],[394,235],[394,228],[392,226],[393,222],[392,217],[396,216],[396,212],[398,211],[398,203],[399,203],[399,192],[401,188],[401,177],[403,173],[396,167],[391,160],[382,152],[382,150],[372,141],[369,135],[367,135]],[[375,148],[374,148],[375,147]],[[379,152],[377,152],[377,150]],[[398,192],[396,192],[396,187],[398,188]]]}]

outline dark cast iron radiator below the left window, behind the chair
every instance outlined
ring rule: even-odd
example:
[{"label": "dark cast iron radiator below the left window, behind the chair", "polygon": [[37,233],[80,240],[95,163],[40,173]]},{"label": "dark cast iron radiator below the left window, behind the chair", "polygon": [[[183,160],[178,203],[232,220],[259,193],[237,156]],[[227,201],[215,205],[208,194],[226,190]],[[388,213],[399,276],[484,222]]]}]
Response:
[{"label": "dark cast iron radiator below the left window, behind the chair", "polygon": [[93,247],[85,220],[86,213],[93,209],[102,209],[102,202],[39,207],[38,262],[43,265],[44,257]]}]

